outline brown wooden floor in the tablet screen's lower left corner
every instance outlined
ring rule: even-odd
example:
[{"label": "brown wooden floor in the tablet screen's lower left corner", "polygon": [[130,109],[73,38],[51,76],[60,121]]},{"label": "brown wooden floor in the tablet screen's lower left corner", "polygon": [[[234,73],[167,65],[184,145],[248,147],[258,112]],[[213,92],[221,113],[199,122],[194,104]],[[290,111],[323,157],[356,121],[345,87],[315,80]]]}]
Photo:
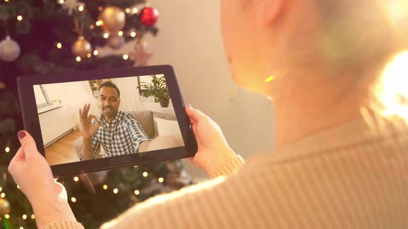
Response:
[{"label": "brown wooden floor in the tablet screen's lower left corner", "polygon": [[73,147],[73,142],[79,137],[81,137],[80,130],[73,130],[45,148],[46,159],[50,166],[60,163],[80,161],[80,158]]}]

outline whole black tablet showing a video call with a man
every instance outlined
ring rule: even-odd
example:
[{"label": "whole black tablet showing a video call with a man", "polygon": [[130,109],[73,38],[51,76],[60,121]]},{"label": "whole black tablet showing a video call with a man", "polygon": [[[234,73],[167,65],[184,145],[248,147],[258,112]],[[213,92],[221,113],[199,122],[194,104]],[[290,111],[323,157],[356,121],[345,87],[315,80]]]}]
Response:
[{"label": "whole black tablet showing a video call with a man", "polygon": [[24,128],[55,177],[197,150],[171,66],[31,75],[17,85]]}]

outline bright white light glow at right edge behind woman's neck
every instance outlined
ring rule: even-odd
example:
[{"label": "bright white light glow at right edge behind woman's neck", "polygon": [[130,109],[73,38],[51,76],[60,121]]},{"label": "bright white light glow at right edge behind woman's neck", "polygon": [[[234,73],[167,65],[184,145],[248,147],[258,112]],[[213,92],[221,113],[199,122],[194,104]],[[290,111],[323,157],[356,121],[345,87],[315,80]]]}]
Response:
[{"label": "bright white light glow at right edge behind woman's neck", "polygon": [[376,88],[378,98],[386,107],[383,115],[400,115],[408,119],[408,50],[400,52],[382,72],[382,83]]}]

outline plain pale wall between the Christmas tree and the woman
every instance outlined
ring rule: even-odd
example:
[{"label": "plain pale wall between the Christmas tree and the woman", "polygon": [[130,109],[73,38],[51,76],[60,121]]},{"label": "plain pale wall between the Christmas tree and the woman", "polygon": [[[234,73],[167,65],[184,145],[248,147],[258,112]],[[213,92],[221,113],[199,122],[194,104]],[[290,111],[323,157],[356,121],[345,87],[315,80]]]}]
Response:
[{"label": "plain pale wall between the Christmas tree and the woman", "polygon": [[[243,157],[275,147],[272,103],[238,89],[230,77],[219,28],[219,1],[150,0],[160,12],[157,37],[147,37],[151,65],[171,64],[186,103],[212,117]],[[243,36],[245,31],[243,31]],[[196,179],[205,174],[185,160]]]}]

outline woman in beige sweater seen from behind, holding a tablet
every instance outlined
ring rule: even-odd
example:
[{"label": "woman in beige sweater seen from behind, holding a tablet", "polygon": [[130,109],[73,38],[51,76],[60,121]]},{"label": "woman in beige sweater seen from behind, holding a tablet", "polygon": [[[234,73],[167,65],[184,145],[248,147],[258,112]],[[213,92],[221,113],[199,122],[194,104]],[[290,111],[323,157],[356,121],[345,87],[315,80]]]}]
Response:
[{"label": "woman in beige sweater seen from behind, holding a tablet", "polygon": [[[274,99],[277,152],[243,165],[219,126],[186,108],[198,141],[192,161],[214,179],[149,199],[102,228],[406,228],[408,54],[388,7],[221,0],[234,80]],[[37,226],[82,228],[32,137],[19,139],[9,170]]]}]

